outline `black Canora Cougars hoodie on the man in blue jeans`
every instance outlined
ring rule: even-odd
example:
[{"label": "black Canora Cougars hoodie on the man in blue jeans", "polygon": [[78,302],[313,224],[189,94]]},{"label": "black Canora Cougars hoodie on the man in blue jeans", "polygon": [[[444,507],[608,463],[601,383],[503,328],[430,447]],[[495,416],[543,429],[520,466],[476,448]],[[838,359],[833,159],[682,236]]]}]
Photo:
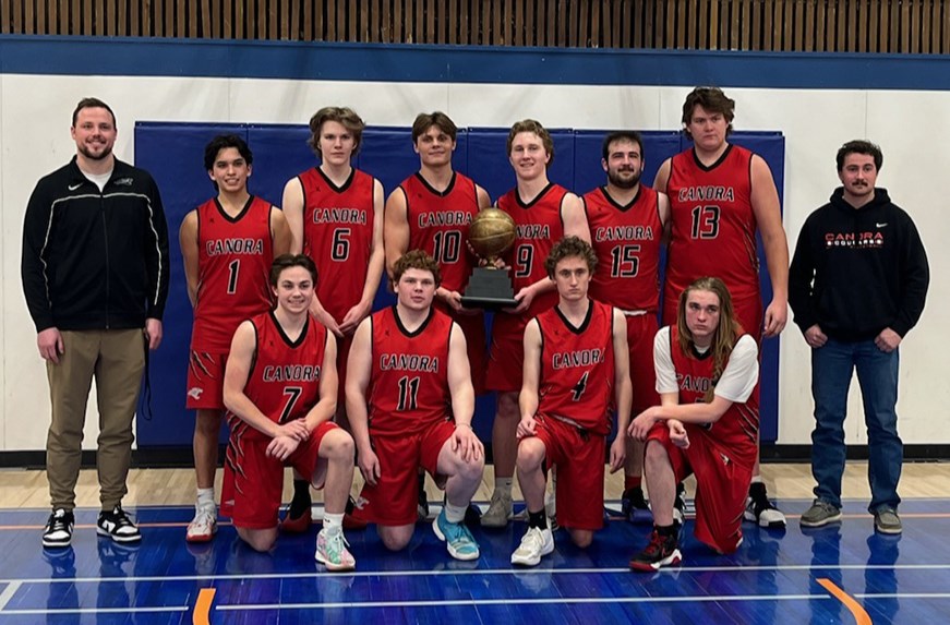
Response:
[{"label": "black Canora Cougars hoodie on the man in blue jeans", "polygon": [[789,272],[789,303],[804,333],[857,341],[890,327],[902,337],[924,311],[930,271],[911,216],[886,189],[855,208],[839,188],[805,221]]}]

